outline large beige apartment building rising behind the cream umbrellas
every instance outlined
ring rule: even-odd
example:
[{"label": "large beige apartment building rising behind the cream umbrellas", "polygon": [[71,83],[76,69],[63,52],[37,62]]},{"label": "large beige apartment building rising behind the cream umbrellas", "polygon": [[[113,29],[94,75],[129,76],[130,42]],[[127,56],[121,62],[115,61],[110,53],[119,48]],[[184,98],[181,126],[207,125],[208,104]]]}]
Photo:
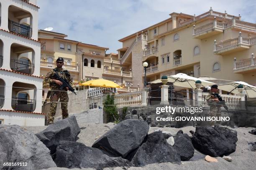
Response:
[{"label": "large beige apartment building rising behind the cream umbrellas", "polygon": [[[201,15],[171,13],[170,18],[119,40],[121,67],[131,69],[132,83],[185,73],[256,83],[256,24],[210,9]],[[141,75],[141,76],[138,76]]]}]

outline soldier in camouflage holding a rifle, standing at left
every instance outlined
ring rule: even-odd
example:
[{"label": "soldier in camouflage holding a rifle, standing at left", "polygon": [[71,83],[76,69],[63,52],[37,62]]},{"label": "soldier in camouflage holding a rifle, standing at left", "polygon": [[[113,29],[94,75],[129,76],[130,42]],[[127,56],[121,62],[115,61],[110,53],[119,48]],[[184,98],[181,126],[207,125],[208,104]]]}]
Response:
[{"label": "soldier in camouflage holding a rifle, standing at left", "polygon": [[51,92],[50,92],[51,107],[48,114],[48,121],[47,121],[48,125],[54,122],[54,115],[56,112],[57,102],[59,99],[61,102],[62,119],[69,117],[68,110],[67,110],[67,102],[69,101],[67,90],[69,90],[69,88],[66,87],[66,89],[60,90],[59,88],[62,85],[62,82],[59,80],[56,80],[56,77],[54,76],[56,72],[60,77],[62,77],[63,79],[66,79],[69,82],[69,84],[72,86],[70,73],[68,70],[62,69],[63,64],[64,64],[64,59],[62,57],[59,57],[56,60],[57,67],[51,70],[50,72],[48,72],[45,77],[45,82],[48,82],[51,87]]}]

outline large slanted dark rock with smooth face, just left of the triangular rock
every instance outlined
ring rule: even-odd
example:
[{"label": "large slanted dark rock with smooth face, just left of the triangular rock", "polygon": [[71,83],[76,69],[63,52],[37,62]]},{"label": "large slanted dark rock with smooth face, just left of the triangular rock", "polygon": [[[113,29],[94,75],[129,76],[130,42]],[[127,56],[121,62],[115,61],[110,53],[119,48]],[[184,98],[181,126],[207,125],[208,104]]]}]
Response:
[{"label": "large slanted dark rock with smooth face, just left of the triangular rock", "polygon": [[110,156],[125,158],[141,145],[148,129],[148,124],[143,120],[124,120],[102,135],[92,147],[99,148]]}]

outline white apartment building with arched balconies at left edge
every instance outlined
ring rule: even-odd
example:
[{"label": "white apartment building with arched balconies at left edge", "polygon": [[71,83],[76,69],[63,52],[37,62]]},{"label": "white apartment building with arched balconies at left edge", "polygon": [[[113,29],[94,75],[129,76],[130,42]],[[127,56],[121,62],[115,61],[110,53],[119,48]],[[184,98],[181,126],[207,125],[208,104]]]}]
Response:
[{"label": "white apartment building with arched balconies at left edge", "polygon": [[0,124],[44,125],[36,0],[0,0]]}]

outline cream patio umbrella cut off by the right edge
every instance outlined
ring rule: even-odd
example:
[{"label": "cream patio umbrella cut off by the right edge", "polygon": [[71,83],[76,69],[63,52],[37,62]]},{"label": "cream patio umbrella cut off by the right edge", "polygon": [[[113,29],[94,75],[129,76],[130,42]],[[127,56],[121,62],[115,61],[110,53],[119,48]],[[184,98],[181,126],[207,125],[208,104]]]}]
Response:
[{"label": "cream patio umbrella cut off by the right edge", "polygon": [[243,85],[244,92],[248,97],[250,97],[250,98],[256,97],[256,87],[253,85],[249,85],[247,82],[242,82],[242,81],[229,82],[229,83],[218,85],[218,88],[220,90],[227,91],[228,94],[230,92],[239,94],[240,93],[238,91],[239,85]]}]

